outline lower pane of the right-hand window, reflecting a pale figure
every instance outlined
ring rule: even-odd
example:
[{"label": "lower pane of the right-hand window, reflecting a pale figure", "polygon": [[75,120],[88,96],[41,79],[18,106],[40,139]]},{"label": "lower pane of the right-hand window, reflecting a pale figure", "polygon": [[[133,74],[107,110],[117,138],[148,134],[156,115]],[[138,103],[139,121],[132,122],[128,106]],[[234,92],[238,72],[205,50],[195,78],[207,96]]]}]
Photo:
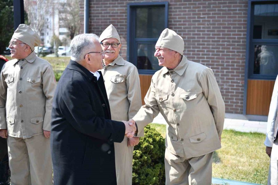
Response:
[{"label": "lower pane of the right-hand window, reflecting a pale figure", "polygon": [[278,74],[277,45],[255,45],[254,74]]}]

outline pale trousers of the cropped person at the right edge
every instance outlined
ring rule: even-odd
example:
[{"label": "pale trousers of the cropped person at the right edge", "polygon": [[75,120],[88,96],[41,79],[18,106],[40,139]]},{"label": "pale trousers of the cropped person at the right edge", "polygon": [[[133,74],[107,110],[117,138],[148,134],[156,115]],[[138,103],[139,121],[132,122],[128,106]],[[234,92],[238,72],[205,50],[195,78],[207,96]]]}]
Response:
[{"label": "pale trousers of the cropped person at the right edge", "polygon": [[278,139],[272,145],[267,185],[278,185]]}]

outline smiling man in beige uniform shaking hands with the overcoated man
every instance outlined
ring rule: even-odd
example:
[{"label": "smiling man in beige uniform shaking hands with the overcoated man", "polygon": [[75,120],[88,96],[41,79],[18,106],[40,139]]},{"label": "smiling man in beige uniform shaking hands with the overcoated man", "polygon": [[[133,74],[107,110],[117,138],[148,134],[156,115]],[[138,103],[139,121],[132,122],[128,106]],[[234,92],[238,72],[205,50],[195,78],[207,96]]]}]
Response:
[{"label": "smiling man in beige uniform shaking hands with the overcoated man", "polygon": [[183,39],[162,31],[154,56],[164,66],[133,117],[138,134],[160,112],[167,121],[166,185],[211,185],[213,151],[221,148],[225,105],[213,71],[183,55]]}]

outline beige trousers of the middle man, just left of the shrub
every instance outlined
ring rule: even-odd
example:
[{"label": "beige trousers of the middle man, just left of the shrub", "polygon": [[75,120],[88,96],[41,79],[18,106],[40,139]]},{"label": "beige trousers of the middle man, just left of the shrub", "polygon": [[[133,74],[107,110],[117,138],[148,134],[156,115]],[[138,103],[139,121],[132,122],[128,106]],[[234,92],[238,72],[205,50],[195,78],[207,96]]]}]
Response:
[{"label": "beige trousers of the middle man, just left of the shrub", "polygon": [[118,185],[132,184],[132,159],[134,146],[128,147],[127,144],[127,137],[124,137],[124,140],[120,143],[114,142],[116,177]]}]

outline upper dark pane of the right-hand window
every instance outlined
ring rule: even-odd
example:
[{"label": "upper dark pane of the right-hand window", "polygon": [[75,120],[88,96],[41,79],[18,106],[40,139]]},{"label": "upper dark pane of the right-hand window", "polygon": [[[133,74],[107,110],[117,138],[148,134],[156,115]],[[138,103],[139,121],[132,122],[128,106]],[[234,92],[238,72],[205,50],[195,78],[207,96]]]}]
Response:
[{"label": "upper dark pane of the right-hand window", "polygon": [[254,7],[253,39],[278,39],[278,4]]}]

